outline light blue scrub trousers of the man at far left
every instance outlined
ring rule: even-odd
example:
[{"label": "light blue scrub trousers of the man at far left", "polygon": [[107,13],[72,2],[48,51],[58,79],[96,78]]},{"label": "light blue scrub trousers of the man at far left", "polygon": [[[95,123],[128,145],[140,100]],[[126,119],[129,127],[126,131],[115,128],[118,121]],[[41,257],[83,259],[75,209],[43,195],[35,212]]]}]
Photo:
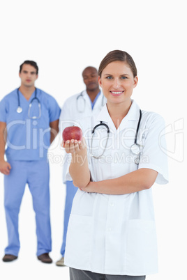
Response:
[{"label": "light blue scrub trousers of the man at far left", "polygon": [[[8,161],[10,174],[4,177],[4,206],[8,231],[8,246],[5,254],[18,256],[20,239],[18,232],[18,215],[25,185],[33,199],[36,213],[37,256],[52,249],[50,226],[50,171],[46,160]],[[29,221],[28,221],[29,222]]]}]

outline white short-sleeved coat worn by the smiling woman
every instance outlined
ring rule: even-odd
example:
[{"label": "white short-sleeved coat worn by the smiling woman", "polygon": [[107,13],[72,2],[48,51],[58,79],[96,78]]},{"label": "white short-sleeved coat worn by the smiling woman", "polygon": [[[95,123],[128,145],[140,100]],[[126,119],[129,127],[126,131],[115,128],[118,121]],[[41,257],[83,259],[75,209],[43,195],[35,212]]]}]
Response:
[{"label": "white short-sleeved coat worn by the smiling woman", "polygon": [[[107,106],[103,107],[97,123],[103,121],[110,127],[110,137],[100,159],[90,157],[91,140],[87,141],[91,180],[118,178],[147,168],[158,172],[158,184],[167,183],[165,122],[158,114],[142,111],[137,137],[141,146],[140,164],[137,166],[133,161],[130,146],[135,141],[139,116],[140,108],[133,101],[117,130]],[[93,140],[93,152],[98,155],[101,151],[98,141],[106,136],[104,133],[100,129],[96,141]],[[70,178],[70,174],[66,177]],[[151,188],[123,195],[87,193],[78,189],[68,224],[65,264],[102,274],[137,276],[158,272]]]}]

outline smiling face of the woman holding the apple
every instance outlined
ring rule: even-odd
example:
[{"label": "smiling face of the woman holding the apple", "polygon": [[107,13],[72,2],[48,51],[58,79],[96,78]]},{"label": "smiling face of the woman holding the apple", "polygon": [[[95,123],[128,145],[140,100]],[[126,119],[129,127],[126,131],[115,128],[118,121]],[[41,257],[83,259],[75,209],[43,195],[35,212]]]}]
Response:
[{"label": "smiling face of the woman holding the apple", "polygon": [[133,88],[137,86],[137,80],[137,77],[133,77],[128,63],[124,61],[109,63],[103,69],[101,77],[98,77],[99,85],[107,98],[107,104],[130,102]]}]

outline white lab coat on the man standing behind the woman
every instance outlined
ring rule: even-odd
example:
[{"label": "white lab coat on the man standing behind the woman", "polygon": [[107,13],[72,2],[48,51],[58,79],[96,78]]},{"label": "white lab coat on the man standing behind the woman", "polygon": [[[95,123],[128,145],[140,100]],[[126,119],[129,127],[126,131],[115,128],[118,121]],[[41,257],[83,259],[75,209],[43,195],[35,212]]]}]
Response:
[{"label": "white lab coat on the man standing behind the woman", "polygon": [[[100,91],[100,95],[92,109],[87,91],[82,92],[85,103],[83,98],[80,97],[77,99],[79,95],[80,93],[75,94],[64,102],[59,118],[59,131],[60,134],[62,134],[64,128],[77,125],[81,127],[84,137],[87,138],[88,131],[90,132],[91,127],[93,127],[93,120],[98,116],[98,113],[106,103],[106,99],[103,96],[102,91]],[[69,155],[65,153],[63,157],[63,183],[66,182],[66,173],[69,162],[68,158]]]}]

